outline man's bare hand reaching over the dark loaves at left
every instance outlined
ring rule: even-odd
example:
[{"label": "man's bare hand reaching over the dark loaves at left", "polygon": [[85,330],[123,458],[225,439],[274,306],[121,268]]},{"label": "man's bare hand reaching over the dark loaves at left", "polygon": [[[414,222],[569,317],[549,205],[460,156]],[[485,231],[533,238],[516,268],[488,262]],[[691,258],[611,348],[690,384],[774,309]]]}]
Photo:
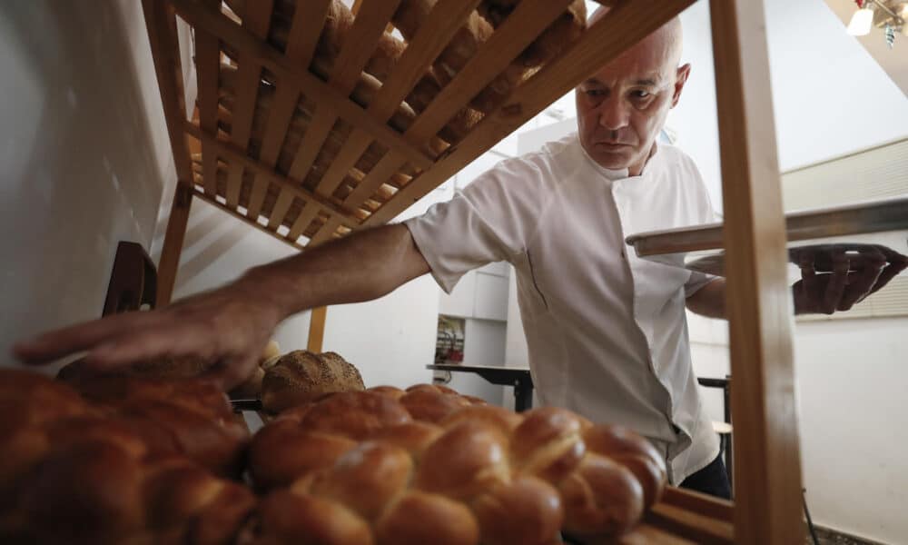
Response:
[{"label": "man's bare hand reaching over the dark loaves at left", "polygon": [[13,351],[25,363],[52,362],[88,351],[85,363],[98,371],[159,357],[212,362],[202,375],[231,390],[254,370],[262,348],[280,322],[267,285],[243,278],[150,312],[127,312],[47,332]]}]

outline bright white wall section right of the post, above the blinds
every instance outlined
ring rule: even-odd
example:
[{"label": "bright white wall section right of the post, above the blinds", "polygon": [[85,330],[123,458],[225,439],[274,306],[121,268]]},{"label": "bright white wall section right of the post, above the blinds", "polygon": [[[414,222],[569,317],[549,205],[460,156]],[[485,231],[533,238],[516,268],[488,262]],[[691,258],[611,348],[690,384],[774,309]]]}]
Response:
[{"label": "bright white wall section right of the post, above the blinds", "polygon": [[783,171],[908,134],[905,94],[823,0],[765,5]]}]

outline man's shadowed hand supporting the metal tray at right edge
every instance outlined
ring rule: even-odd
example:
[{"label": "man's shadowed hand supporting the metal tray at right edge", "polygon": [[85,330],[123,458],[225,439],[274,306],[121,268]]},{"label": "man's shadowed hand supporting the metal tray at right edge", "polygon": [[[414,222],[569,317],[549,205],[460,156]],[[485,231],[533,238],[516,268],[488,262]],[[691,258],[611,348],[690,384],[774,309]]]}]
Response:
[{"label": "man's shadowed hand supporting the metal tray at right edge", "polygon": [[795,314],[850,310],[908,267],[908,257],[878,244],[817,244],[790,256],[801,269],[792,286]]}]

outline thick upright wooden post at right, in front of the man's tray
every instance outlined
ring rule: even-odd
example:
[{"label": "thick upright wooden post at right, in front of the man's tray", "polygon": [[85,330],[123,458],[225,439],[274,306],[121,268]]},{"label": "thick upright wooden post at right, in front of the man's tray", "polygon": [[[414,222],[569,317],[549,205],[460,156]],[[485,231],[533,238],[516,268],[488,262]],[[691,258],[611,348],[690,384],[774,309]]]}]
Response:
[{"label": "thick upright wooden post at right, in front of the man's tray", "polygon": [[[728,341],[735,415],[735,533],[804,543],[785,216],[762,2],[710,2],[716,63]],[[734,211],[734,213],[728,213]]]}]

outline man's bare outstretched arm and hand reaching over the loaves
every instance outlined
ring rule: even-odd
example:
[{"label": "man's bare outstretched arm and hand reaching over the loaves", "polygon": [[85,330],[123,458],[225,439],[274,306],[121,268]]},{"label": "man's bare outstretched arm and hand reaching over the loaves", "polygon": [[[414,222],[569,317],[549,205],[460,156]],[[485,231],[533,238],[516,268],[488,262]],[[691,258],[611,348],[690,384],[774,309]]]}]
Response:
[{"label": "man's bare outstretched arm and hand reaching over the loaves", "polygon": [[239,280],[152,312],[127,312],[46,332],[14,347],[26,363],[74,352],[98,369],[161,356],[216,362],[230,389],[258,361],[279,322],[313,307],[363,302],[429,272],[410,230],[386,225],[246,272]]}]

